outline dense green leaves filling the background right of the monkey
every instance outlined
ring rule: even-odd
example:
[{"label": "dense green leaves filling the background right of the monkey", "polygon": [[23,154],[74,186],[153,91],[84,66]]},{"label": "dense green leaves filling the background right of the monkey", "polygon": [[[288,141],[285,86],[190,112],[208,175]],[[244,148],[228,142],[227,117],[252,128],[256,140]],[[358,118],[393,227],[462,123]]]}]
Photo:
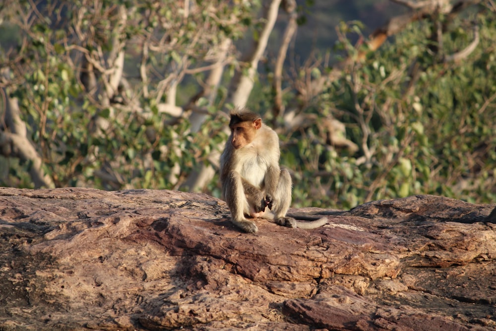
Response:
[{"label": "dense green leaves filling the background right of the monkey", "polygon": [[[309,111],[346,123],[360,151],[326,145],[318,125],[294,132],[294,143],[282,155],[296,169],[294,204],[308,205],[310,199],[315,206],[350,208],[417,194],[495,200],[496,24],[494,13],[471,18],[481,27],[481,40],[463,62],[434,61],[426,42],[433,23],[424,22],[311,100]],[[472,38],[464,22],[454,25],[455,32],[443,39],[446,54],[464,47],[460,39],[468,44]]]}]

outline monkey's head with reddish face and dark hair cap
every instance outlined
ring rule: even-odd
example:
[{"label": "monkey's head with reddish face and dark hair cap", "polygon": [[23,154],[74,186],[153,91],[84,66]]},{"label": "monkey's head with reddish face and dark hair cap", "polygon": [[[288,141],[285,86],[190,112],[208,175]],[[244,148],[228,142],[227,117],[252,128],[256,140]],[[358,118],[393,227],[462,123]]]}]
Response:
[{"label": "monkey's head with reddish face and dark hair cap", "polygon": [[255,139],[257,130],[262,127],[262,119],[255,113],[246,109],[235,109],[231,112],[231,144],[240,149]]}]

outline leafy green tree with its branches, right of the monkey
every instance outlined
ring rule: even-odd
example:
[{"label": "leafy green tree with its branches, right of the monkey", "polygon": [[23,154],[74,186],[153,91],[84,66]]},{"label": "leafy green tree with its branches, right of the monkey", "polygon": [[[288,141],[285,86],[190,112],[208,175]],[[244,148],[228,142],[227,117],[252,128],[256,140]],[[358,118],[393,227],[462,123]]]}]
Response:
[{"label": "leafy green tree with its branches, right of the monkey", "polygon": [[[301,183],[297,204],[309,195],[319,197],[315,205],[344,207],[421,193],[495,198],[495,7],[396,2],[412,10],[369,38],[359,23],[343,22],[345,59],[331,70],[308,62],[292,80],[299,100],[286,114],[285,124],[296,125],[285,133],[291,152],[283,158]],[[356,45],[351,33],[359,34]],[[385,43],[391,35],[394,42]],[[334,120],[345,124],[338,132],[357,152],[336,143]]]}]

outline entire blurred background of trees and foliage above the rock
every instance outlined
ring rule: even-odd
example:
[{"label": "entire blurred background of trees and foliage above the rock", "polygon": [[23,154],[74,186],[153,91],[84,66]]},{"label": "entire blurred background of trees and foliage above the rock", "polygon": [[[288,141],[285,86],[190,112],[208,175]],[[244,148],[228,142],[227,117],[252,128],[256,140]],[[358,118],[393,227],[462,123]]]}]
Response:
[{"label": "entire blurred background of trees and foliage above the rock", "polygon": [[4,0],[0,186],[220,197],[228,113],[293,206],[496,201],[494,0]]}]

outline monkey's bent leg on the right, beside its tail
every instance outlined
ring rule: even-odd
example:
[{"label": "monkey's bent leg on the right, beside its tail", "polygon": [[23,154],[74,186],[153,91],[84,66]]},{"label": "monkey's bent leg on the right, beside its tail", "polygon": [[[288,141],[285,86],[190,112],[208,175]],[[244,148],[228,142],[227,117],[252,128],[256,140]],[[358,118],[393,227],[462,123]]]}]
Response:
[{"label": "monkey's bent leg on the right, beside its tail", "polygon": [[[296,220],[293,217],[286,216],[289,206],[291,205],[291,175],[287,169],[281,169],[277,189],[274,193],[275,205],[272,206],[274,221],[282,226],[296,228]],[[270,204],[269,204],[270,205]]]}]

